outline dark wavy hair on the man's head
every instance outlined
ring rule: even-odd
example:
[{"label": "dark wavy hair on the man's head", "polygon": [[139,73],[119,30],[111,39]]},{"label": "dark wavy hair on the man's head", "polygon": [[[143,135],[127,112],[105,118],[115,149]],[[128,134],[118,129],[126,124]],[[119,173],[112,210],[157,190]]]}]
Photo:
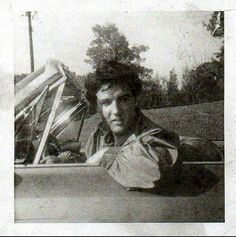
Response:
[{"label": "dark wavy hair on the man's head", "polygon": [[115,60],[102,60],[95,72],[90,73],[85,80],[86,97],[91,106],[97,105],[96,93],[105,84],[127,85],[135,99],[142,90],[142,82],[134,65]]}]

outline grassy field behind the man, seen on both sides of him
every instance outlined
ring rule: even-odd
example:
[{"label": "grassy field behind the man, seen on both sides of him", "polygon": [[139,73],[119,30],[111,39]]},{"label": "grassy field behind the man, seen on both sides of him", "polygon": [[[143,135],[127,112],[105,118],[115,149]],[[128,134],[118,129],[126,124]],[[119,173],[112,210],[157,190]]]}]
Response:
[{"label": "grassy field behind the man, seen on both sides of him", "polygon": [[[224,101],[150,109],[143,112],[155,123],[179,135],[224,140]],[[80,139],[82,146],[100,121],[99,114],[85,120]],[[76,137],[77,131],[78,122],[73,122],[63,137]]]}]

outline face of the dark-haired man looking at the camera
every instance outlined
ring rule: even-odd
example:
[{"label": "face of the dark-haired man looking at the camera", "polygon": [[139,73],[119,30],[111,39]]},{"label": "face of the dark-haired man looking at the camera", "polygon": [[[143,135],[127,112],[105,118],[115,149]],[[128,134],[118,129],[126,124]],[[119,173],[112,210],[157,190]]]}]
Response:
[{"label": "face of the dark-haired man looking at the camera", "polygon": [[98,108],[116,136],[129,133],[135,121],[135,98],[122,84],[104,85],[97,92]]}]

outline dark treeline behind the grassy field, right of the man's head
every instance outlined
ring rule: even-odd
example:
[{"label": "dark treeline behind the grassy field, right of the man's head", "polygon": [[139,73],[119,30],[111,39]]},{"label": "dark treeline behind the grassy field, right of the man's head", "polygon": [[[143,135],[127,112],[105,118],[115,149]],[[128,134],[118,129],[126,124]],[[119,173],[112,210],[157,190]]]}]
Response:
[{"label": "dark treeline behind the grassy field, right of the man's head", "polygon": [[224,63],[212,60],[193,69],[184,70],[181,85],[175,70],[169,78],[159,77],[143,81],[138,99],[143,109],[188,105],[224,99]]}]

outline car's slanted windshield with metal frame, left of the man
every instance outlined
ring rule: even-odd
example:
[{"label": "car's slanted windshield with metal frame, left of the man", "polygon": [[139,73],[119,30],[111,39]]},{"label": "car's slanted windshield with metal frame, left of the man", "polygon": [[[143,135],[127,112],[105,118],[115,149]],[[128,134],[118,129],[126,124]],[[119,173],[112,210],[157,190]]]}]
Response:
[{"label": "car's slanted windshield with metal frame, left of the man", "polygon": [[[50,65],[51,74],[44,67],[16,84],[15,164],[38,164],[45,155],[58,155],[60,145],[66,142],[65,128],[75,120],[80,125],[71,140],[79,141],[87,101],[72,74],[63,71],[58,62],[53,66],[57,70],[52,71]],[[32,84],[38,87],[34,89]]]}]

